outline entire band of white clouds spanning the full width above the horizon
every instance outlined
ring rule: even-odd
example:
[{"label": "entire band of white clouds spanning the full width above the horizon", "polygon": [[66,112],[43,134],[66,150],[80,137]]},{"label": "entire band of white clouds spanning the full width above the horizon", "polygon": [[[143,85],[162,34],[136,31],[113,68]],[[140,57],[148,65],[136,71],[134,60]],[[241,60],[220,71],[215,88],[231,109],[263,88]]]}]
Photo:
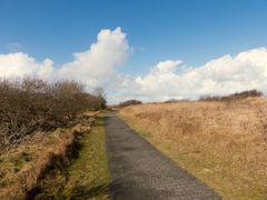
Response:
[{"label": "entire band of white clouds spanning the full width above the horizon", "polygon": [[258,48],[233,57],[226,54],[200,67],[180,60],[161,61],[145,76],[119,73],[130,53],[120,28],[101,30],[87,51],[73,53],[71,62],[55,66],[50,59],[37,61],[23,52],[0,54],[0,77],[32,76],[47,80],[75,79],[88,88],[106,87],[109,101],[129,98],[145,101],[198,98],[258,89],[267,92],[267,49]]}]

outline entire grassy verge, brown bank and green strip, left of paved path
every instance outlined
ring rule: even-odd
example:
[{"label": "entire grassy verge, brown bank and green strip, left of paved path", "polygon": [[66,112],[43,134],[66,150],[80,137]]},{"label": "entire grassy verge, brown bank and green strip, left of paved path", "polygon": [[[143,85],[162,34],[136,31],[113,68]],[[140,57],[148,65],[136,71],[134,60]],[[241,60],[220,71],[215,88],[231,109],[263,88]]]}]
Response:
[{"label": "entire grassy verge, brown bank and green strip, left of paved path", "polygon": [[0,199],[108,199],[103,117],[37,133],[0,154]]}]

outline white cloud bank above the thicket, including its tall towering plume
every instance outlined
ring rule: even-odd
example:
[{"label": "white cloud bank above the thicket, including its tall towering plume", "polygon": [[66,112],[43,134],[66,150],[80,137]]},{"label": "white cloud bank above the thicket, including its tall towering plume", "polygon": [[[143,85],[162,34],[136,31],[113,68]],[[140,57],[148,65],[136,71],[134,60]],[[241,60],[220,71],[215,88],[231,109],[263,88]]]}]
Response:
[{"label": "white cloud bank above the thicket, including its tall towering plume", "polygon": [[87,51],[73,53],[73,60],[55,67],[53,61],[37,61],[23,52],[0,54],[0,77],[32,76],[47,80],[73,79],[88,88],[103,87],[117,77],[117,68],[129,53],[126,33],[120,28],[101,30]]}]

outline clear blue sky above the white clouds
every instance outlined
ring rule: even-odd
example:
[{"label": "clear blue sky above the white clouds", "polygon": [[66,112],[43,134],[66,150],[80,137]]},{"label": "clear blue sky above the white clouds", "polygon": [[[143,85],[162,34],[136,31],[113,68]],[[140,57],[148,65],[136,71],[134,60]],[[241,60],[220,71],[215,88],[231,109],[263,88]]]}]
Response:
[{"label": "clear blue sky above the white clouds", "polygon": [[162,60],[199,67],[267,47],[267,0],[0,0],[0,54],[19,43],[57,67],[117,27],[131,48],[122,73],[146,76]]}]

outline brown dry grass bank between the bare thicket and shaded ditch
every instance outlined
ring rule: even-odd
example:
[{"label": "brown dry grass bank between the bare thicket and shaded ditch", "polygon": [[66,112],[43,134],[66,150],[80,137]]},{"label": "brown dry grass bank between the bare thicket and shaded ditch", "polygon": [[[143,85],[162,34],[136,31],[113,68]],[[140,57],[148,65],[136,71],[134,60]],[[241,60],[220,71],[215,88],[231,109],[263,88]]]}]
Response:
[{"label": "brown dry grass bank between the bare thicket and shaded ditch", "polygon": [[73,128],[57,129],[33,136],[31,140],[3,151],[0,156],[0,199],[26,199],[57,161],[68,162],[76,136],[90,129],[91,117]]}]

